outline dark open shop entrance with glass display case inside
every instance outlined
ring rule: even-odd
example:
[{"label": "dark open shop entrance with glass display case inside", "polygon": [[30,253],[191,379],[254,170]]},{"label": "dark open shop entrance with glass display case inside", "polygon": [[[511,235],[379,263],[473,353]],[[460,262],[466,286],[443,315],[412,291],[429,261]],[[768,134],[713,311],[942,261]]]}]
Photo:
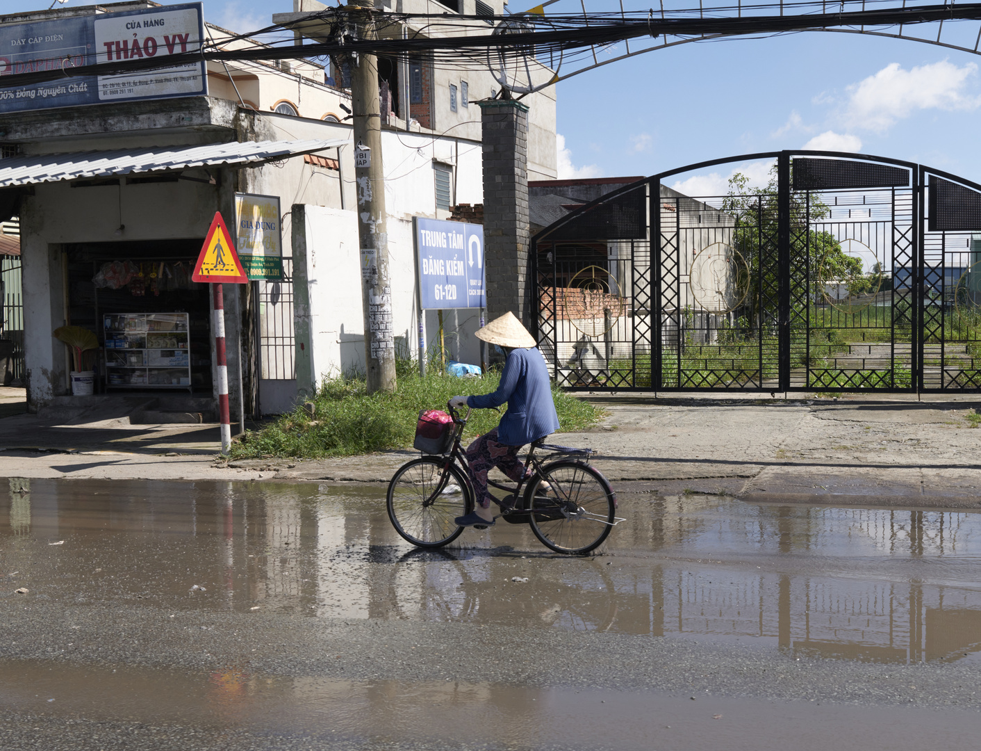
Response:
[{"label": "dark open shop entrance with glass display case inside", "polygon": [[64,253],[69,323],[96,333],[96,393],[211,394],[208,286],[191,282],[201,240],[75,243]]}]

